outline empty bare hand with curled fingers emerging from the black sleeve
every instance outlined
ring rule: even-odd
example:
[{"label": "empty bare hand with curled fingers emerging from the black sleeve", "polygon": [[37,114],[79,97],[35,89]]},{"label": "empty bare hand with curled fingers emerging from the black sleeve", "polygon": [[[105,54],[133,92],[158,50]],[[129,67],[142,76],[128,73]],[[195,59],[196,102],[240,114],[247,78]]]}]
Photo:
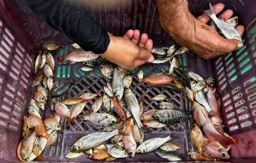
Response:
[{"label": "empty bare hand with curled fingers emerging from the black sleeve", "polygon": [[143,65],[145,62],[153,62],[151,54],[153,41],[147,34],[140,38],[139,30],[128,30],[124,37],[115,37],[109,34],[110,43],[105,53],[100,54],[105,59],[128,70]]}]

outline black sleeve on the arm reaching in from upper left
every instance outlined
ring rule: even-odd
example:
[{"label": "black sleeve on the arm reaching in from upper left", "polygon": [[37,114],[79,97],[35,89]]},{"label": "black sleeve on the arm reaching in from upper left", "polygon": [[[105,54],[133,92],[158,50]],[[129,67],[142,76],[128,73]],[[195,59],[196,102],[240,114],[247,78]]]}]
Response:
[{"label": "black sleeve on the arm reaching in from upper left", "polygon": [[85,51],[105,53],[107,31],[84,9],[80,0],[19,0],[49,25],[64,32]]}]

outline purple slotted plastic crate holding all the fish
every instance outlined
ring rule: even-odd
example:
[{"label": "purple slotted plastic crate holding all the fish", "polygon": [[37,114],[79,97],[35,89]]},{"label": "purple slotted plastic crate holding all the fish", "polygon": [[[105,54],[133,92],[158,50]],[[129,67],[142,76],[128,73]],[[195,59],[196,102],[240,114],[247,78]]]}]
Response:
[{"label": "purple slotted plastic crate holding all the fish", "polygon": [[[195,16],[208,7],[208,3],[224,3],[225,9],[232,9],[235,16],[239,16],[239,23],[245,26],[243,37],[244,48],[211,60],[190,52],[179,55],[183,68],[189,68],[207,78],[214,76],[217,81],[218,92],[221,95],[222,113],[227,132],[239,139],[239,145],[231,146],[230,162],[253,163],[256,149],[256,1],[253,0],[188,0],[189,10]],[[157,8],[154,0],[84,0],[87,11],[100,22],[109,32],[122,36],[128,29],[139,29],[148,33],[154,45],[169,48],[174,40],[160,27]],[[45,43],[57,43],[64,48],[53,52],[55,57],[55,87],[62,83],[75,81],[76,85],[66,94],[59,97],[66,99],[77,97],[84,92],[96,93],[102,91],[102,85],[109,80],[100,73],[99,69],[90,73],[83,73],[81,63],[74,65],[57,64],[57,57],[67,55],[71,50],[72,41],[64,34],[47,25],[46,22],[32,14],[15,0],[1,0],[0,8],[0,162],[17,162],[17,144],[20,141],[22,126],[22,112],[26,110],[31,95],[35,57],[38,49]],[[159,73],[169,64],[143,65],[145,74]],[[163,93],[168,96],[180,110],[190,110],[191,104],[183,93],[174,93],[163,88],[145,89],[138,85],[137,72],[131,71],[135,78],[131,89],[137,98],[146,98],[147,109],[156,107],[157,102],[148,98]],[[95,99],[94,99],[95,100]],[[86,108],[90,108],[93,101],[89,101]],[[48,109],[42,116],[50,116],[50,102]],[[186,123],[169,125],[163,129],[152,129],[145,134],[145,139],[167,136],[173,133],[172,142],[185,146],[180,152],[184,161],[189,161],[186,152],[195,148],[190,139],[190,125],[192,119]],[[63,131],[58,132],[55,144],[41,153],[44,162],[92,162],[87,156],[76,159],[66,159],[64,155],[70,151],[73,143],[87,133],[95,132],[89,125],[79,118],[71,123],[61,120]],[[125,158],[118,161],[127,162],[162,162],[166,161],[153,153],[137,154],[134,159]]]}]

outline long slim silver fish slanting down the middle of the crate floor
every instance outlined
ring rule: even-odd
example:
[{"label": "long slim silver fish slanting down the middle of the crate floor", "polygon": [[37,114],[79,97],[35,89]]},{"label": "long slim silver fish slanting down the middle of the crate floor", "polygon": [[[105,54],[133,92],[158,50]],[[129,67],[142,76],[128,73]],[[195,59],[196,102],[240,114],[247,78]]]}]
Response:
[{"label": "long slim silver fish slanting down the middle of the crate floor", "polygon": [[143,125],[140,122],[140,106],[137,98],[128,87],[125,87],[124,98],[128,110],[131,112],[131,115],[133,116],[138,127],[141,128]]}]

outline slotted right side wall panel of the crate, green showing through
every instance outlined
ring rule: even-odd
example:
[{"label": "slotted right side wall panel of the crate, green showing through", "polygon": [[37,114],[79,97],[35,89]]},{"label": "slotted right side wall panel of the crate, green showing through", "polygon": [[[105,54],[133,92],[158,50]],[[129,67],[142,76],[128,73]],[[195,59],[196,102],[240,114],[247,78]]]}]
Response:
[{"label": "slotted right side wall panel of the crate, green showing through", "polygon": [[255,25],[248,29],[243,48],[215,61],[222,111],[230,132],[250,129],[256,122]]}]

